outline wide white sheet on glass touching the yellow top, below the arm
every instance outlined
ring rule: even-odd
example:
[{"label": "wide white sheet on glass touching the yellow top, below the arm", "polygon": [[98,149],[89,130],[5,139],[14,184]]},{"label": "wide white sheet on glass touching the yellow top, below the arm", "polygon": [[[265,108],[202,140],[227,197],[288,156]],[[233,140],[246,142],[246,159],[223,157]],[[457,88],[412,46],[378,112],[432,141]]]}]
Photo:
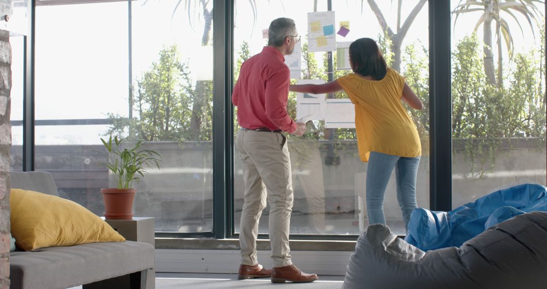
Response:
[{"label": "wide white sheet on glass touching the yellow top, below the arm", "polygon": [[355,128],[355,108],[350,99],[328,99],[325,108],[325,128]]}]

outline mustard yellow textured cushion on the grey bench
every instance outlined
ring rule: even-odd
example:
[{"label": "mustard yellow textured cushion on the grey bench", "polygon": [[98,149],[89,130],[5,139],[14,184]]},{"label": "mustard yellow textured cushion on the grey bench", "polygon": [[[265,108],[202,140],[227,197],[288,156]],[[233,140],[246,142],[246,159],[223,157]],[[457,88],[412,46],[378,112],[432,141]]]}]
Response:
[{"label": "mustard yellow textured cushion on the grey bench", "polygon": [[11,189],[9,198],[11,234],[21,250],[125,241],[108,223],[71,200],[22,189]]}]

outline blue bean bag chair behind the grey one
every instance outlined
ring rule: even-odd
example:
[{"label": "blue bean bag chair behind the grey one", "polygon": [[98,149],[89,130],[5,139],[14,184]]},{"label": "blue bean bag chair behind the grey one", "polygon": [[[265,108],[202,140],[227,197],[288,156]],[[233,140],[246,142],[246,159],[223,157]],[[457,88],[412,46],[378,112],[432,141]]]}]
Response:
[{"label": "blue bean bag chair behind the grey one", "polygon": [[450,212],[417,208],[405,241],[423,251],[459,247],[497,223],[532,211],[547,211],[547,190],[539,184],[498,190]]}]

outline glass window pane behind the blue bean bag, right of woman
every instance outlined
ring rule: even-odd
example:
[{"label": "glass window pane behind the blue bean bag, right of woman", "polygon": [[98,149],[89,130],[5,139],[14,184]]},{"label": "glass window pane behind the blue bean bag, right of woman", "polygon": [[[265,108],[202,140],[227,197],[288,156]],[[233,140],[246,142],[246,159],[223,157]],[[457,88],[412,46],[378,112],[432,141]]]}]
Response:
[{"label": "glass window pane behind the blue bean bag, right of woman", "polygon": [[545,185],[544,4],[451,5],[452,206]]}]

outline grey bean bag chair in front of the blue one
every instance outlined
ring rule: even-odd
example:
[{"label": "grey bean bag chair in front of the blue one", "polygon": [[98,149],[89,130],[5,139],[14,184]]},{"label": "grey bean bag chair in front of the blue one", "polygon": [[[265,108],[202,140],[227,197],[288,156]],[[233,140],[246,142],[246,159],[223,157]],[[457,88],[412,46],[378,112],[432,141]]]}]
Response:
[{"label": "grey bean bag chair in front of the blue one", "polygon": [[427,252],[374,224],[359,236],[342,288],[545,289],[547,213],[525,213],[460,247]]}]

